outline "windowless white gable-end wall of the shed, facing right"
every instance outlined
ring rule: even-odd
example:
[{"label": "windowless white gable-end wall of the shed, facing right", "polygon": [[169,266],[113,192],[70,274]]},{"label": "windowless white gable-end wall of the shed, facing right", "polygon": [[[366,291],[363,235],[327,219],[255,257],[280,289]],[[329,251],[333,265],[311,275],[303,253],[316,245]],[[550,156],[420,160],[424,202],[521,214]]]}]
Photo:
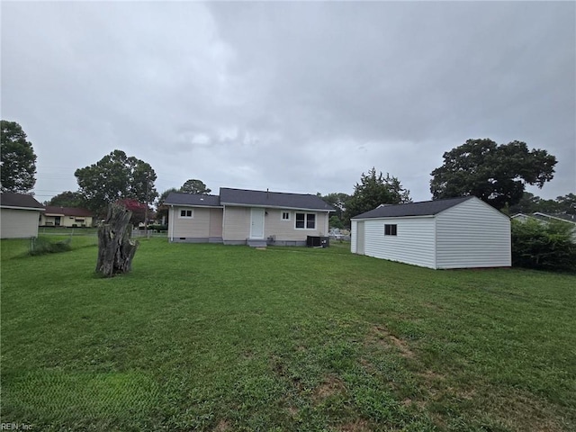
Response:
[{"label": "windowless white gable-end wall of the shed, facing right", "polygon": [[437,214],[437,268],[511,266],[509,217],[478,199]]}]

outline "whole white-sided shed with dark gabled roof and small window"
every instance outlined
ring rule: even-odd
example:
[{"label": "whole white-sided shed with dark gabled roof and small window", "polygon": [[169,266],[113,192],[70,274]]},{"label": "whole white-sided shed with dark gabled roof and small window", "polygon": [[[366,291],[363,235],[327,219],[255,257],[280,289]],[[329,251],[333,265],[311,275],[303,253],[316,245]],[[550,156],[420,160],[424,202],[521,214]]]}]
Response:
[{"label": "whole white-sided shed with dark gabled roof and small window", "polygon": [[351,221],[355,254],[429,268],[512,265],[509,217],[475,196],[380,206]]}]

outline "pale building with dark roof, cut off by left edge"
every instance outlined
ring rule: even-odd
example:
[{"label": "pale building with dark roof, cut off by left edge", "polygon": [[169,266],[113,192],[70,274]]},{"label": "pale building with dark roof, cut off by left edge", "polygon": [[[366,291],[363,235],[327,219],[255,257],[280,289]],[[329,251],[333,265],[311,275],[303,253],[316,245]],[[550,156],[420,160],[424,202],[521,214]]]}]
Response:
[{"label": "pale building with dark roof, cut off by left edge", "polygon": [[38,237],[39,215],[44,206],[23,193],[0,194],[0,238]]}]

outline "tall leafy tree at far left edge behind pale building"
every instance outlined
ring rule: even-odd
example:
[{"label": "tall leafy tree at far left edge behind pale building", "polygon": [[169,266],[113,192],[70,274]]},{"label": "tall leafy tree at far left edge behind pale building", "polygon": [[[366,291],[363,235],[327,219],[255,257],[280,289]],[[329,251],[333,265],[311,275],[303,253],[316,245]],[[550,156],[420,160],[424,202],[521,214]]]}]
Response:
[{"label": "tall leafy tree at far left edge behind pale building", "polygon": [[36,184],[36,154],[26,133],[15,121],[1,121],[0,189],[29,193]]}]

